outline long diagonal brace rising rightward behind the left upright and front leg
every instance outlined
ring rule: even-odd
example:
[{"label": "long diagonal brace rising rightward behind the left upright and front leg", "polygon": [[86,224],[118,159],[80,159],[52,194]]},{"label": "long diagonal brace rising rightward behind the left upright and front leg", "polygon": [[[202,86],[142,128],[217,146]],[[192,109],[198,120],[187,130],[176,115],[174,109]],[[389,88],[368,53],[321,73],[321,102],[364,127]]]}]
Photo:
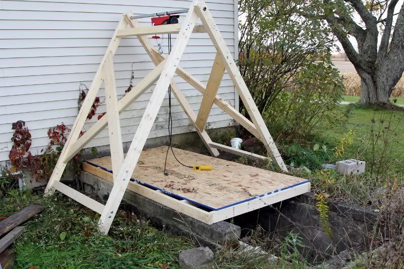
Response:
[{"label": "long diagonal brace rising rightward behind the left upright and front leg", "polygon": [[[123,96],[118,102],[119,113],[122,113],[127,107],[133,103],[143,92],[153,85],[160,77],[163,71],[166,60],[161,62],[153,71],[147,74],[139,83],[137,83],[131,91]],[[108,114],[108,113],[107,113]],[[107,115],[106,114],[106,115]],[[68,162],[74,155],[77,154],[88,142],[91,141],[100,131],[107,127],[108,120],[104,115],[99,121],[95,122],[87,132],[85,132],[75,143],[73,143],[69,151],[64,156],[64,162]],[[61,156],[62,157],[62,156]]]}]

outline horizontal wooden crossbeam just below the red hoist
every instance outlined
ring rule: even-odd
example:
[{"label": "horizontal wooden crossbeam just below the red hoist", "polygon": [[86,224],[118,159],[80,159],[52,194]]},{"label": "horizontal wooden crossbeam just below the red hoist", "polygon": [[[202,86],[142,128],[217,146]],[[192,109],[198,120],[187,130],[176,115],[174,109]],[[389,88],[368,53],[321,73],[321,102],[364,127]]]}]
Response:
[{"label": "horizontal wooden crossbeam just below the red hoist", "polygon": [[[146,26],[146,27],[136,27],[121,29],[117,33],[117,37],[128,37],[128,36],[142,36],[142,35],[153,35],[153,34],[178,34],[181,30],[182,24],[166,24],[166,25],[156,25],[156,26]],[[193,33],[206,33],[205,27],[203,25],[195,25]]]}]

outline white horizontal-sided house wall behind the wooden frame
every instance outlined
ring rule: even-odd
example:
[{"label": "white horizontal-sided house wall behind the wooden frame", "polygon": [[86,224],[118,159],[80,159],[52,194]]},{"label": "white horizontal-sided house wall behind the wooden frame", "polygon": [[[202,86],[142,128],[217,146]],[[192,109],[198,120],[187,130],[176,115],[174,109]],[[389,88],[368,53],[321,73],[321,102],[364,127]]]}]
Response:
[{"label": "white horizontal-sided house wall behind the wooden frame", "polygon": [[[113,3],[113,4],[110,4]],[[145,3],[150,6],[145,6]],[[0,161],[7,160],[12,146],[11,124],[26,122],[32,134],[31,152],[36,155],[48,144],[47,130],[62,122],[73,124],[78,113],[80,83],[90,86],[110,38],[121,18],[131,11],[134,15],[188,8],[185,0],[41,0],[0,1]],[[237,50],[237,5],[234,0],[209,0],[207,6],[231,52]],[[181,20],[186,14],[182,14]],[[235,17],[236,16],[236,17]],[[140,19],[141,26],[150,19]],[[176,35],[172,35],[175,38]],[[150,39],[153,44],[156,40]],[[168,53],[167,35],[163,42]],[[173,40],[175,44],[175,40]],[[197,79],[209,78],[215,47],[208,34],[193,34],[180,65]],[[131,66],[134,83],[139,82],[154,65],[136,38],[124,38],[114,57],[118,98],[128,88]],[[202,96],[182,79],[176,77],[180,89],[195,113]],[[154,86],[121,114],[122,138],[131,141]],[[218,91],[221,98],[237,106],[235,90],[226,73]],[[105,92],[98,92],[103,102]],[[159,111],[151,137],[168,134],[168,94]],[[174,97],[173,97],[174,98]],[[193,130],[177,101],[172,99],[173,133]],[[105,112],[105,103],[97,114]],[[87,120],[84,130],[97,120]],[[209,117],[210,128],[225,127],[230,118],[216,105]],[[109,144],[108,130],[102,131],[87,147]]]}]

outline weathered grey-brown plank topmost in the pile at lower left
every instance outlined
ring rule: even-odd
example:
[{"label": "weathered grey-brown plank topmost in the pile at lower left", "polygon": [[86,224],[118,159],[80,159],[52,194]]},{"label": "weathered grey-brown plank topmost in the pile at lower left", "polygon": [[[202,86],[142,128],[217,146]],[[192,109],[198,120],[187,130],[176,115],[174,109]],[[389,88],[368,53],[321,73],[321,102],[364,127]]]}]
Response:
[{"label": "weathered grey-brown plank topmost in the pile at lower left", "polygon": [[0,236],[10,232],[18,225],[26,222],[27,220],[34,217],[37,213],[40,213],[45,209],[42,205],[32,204],[24,209],[18,211],[13,216],[0,222]]}]

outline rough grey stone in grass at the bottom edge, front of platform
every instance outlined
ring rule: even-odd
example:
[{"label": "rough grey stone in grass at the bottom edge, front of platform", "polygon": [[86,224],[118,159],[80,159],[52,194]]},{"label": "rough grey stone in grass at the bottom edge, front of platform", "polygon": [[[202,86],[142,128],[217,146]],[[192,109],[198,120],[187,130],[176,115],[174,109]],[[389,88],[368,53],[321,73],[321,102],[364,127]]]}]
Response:
[{"label": "rough grey stone in grass at the bottom edge, front of platform", "polygon": [[204,268],[213,265],[214,255],[209,247],[197,247],[181,251],[178,259],[183,269]]}]

